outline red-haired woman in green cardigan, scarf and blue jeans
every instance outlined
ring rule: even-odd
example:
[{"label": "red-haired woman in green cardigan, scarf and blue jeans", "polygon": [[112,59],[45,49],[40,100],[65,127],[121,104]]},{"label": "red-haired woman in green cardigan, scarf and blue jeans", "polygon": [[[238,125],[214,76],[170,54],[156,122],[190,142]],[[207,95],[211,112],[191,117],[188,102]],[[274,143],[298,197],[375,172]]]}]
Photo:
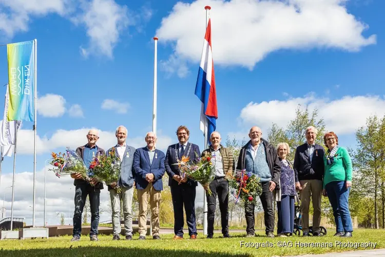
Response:
[{"label": "red-haired woman in green cardigan, scarf and blue jeans", "polygon": [[328,195],[333,208],[337,227],[334,235],[351,237],[353,225],[349,211],[349,192],[352,187],[352,161],[348,151],[338,146],[338,137],[334,132],[326,133],[323,141],[329,150],[323,157],[325,173],[322,194]]}]

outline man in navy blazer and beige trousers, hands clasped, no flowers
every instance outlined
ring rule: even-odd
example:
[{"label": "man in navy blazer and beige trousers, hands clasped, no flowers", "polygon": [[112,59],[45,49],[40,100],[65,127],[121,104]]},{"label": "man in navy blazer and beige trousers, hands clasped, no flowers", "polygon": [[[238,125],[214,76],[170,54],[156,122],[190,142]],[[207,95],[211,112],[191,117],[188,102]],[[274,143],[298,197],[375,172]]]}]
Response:
[{"label": "man in navy blazer and beige trousers, hands clasped, no flowers", "polygon": [[148,200],[151,207],[152,238],[160,239],[159,204],[163,190],[162,177],[165,173],[166,156],[162,151],[155,149],[157,142],[155,133],[148,132],[144,140],[147,146],[138,148],[133,156],[139,201],[139,239],[146,239]]}]

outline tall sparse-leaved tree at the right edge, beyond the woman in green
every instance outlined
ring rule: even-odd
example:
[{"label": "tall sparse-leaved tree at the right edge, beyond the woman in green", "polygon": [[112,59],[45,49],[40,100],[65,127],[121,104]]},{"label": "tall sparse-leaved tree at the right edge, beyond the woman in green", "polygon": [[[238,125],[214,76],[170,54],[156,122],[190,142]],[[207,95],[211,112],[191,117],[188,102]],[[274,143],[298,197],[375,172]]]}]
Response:
[{"label": "tall sparse-leaved tree at the right edge, beyond the woman in green", "polygon": [[[366,126],[360,127],[356,132],[357,149],[354,156],[354,165],[360,181],[359,186],[366,195],[374,197],[374,220],[377,229],[379,228],[378,199],[385,168],[384,136],[385,117],[382,119],[378,119],[377,116],[369,117]],[[382,205],[384,205],[383,202]]]}]

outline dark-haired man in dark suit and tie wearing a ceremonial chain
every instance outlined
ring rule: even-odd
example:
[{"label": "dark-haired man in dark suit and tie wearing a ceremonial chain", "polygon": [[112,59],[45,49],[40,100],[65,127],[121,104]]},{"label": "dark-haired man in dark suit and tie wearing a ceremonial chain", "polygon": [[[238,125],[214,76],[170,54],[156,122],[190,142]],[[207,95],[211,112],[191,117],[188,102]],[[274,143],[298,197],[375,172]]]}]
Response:
[{"label": "dark-haired man in dark suit and tie wearing a ceremonial chain", "polygon": [[174,206],[174,239],[183,239],[183,205],[186,212],[188,234],[191,239],[197,238],[197,227],[195,218],[195,196],[197,181],[191,180],[182,174],[178,165],[178,160],[182,156],[190,157],[190,161],[197,162],[200,157],[199,146],[188,142],[190,132],[186,126],[179,126],[177,136],[179,143],[168,146],[165,167],[169,177],[168,185],[171,189],[172,205]]}]

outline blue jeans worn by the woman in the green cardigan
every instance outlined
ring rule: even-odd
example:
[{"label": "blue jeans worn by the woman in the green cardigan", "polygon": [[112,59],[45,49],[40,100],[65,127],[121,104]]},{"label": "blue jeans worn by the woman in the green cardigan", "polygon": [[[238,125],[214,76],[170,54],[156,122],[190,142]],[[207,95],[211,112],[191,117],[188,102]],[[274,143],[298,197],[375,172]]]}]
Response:
[{"label": "blue jeans worn by the woman in the green cardigan", "polygon": [[332,181],[325,186],[330,204],[333,208],[337,232],[352,232],[352,218],[349,211],[350,188],[345,187],[345,181]]}]

